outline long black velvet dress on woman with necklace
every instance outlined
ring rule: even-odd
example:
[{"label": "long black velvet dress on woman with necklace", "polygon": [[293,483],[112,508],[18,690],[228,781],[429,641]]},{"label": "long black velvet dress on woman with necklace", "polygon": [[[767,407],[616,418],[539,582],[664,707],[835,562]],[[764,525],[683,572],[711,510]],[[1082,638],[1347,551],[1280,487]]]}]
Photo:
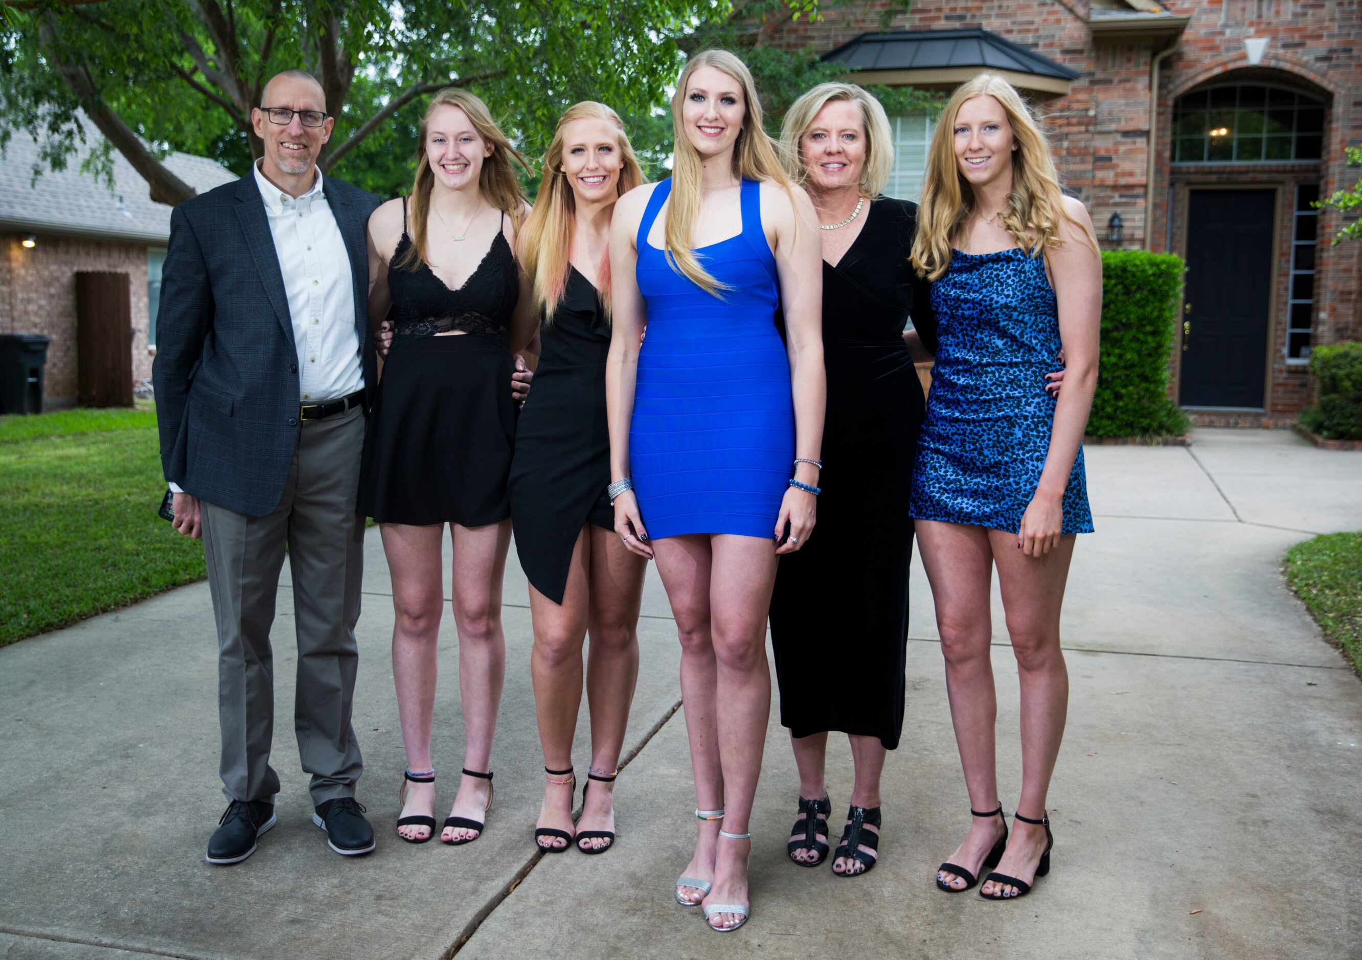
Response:
[{"label": "long black velvet dress on woman with necklace", "polygon": [[780,558],[771,641],[780,723],[794,737],[903,731],[913,517],[908,489],[925,403],[908,316],[936,350],[930,285],[908,264],[917,204],[881,197],[834,267],[823,264],[828,379],[817,526]]}]

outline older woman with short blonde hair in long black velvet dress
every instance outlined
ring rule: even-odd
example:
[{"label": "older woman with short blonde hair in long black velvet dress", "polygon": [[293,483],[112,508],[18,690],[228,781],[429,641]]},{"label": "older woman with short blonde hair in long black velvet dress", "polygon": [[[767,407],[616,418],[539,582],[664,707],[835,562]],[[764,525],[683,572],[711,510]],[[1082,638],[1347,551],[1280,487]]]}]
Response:
[{"label": "older woman with short blonde hair in long black velvet dress", "polygon": [[[802,866],[828,858],[824,754],[828,731],[843,731],[855,786],[832,871],[851,877],[874,866],[880,771],[903,729],[907,494],[925,413],[914,362],[930,359],[936,325],[929,285],[907,267],[917,204],[880,196],[893,154],[878,101],[820,84],[790,108],[782,140],[823,227],[828,376],[819,537],[780,560],[771,598],[780,723],[799,768],[789,852]],[[829,670],[842,679],[832,688]]]}]

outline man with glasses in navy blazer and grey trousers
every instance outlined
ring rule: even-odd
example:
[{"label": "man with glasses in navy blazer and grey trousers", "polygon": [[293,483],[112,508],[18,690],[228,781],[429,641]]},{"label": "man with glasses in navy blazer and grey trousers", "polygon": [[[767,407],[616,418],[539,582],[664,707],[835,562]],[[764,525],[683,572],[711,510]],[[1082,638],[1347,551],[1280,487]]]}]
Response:
[{"label": "man with glasses in navy blazer and grey trousers", "polygon": [[275,824],[270,626],[285,550],[298,644],[294,729],[312,821],[338,854],[375,847],[354,798],[350,723],[364,520],[366,391],[376,384],[365,225],[379,197],[334,177],[321,86],[274,76],[251,112],[253,172],[170,215],[153,384],[174,527],[203,537],[218,628],[219,775],[210,863],[240,863]]}]

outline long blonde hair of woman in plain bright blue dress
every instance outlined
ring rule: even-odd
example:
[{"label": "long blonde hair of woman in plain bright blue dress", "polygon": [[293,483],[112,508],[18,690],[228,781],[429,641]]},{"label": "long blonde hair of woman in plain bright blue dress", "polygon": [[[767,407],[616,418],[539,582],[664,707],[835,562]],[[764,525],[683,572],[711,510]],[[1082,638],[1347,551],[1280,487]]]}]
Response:
[{"label": "long blonde hair of woman in plain bright blue dress", "polygon": [[[691,231],[700,215],[700,151],[695,148],[685,132],[681,109],[685,105],[685,91],[691,75],[701,67],[723,71],[742,87],[745,110],[742,129],[733,144],[733,174],[744,180],[772,180],[790,191],[790,177],[780,165],[779,146],[761,127],[761,99],[757,97],[752,71],[727,50],[704,50],[696,53],[681,68],[676,93],[671,94],[671,136],[676,142],[671,159],[671,196],[667,199],[667,219],[665,225],[663,248],[671,268],[689,278],[707,293],[719,295],[727,287],[719,283],[710,271],[700,266],[700,257],[691,246]],[[793,195],[791,195],[793,203]]]}]

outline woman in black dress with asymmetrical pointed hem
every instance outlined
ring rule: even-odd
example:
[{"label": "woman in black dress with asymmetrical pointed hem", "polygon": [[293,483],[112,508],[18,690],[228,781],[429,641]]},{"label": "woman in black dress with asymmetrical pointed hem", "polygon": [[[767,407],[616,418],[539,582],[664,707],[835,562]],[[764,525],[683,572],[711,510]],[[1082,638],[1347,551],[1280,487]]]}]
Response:
[{"label": "woman in black dress with asymmetrical pointed hem", "polygon": [[[614,532],[605,361],[610,350],[607,245],[616,200],[643,180],[618,114],[586,101],[558,120],[534,211],[520,231],[539,327],[534,388],[516,428],[511,517],[530,581],[535,714],[545,787],[535,843],[584,854],[614,843],[613,782],[639,675],[639,605],[647,560]],[[582,644],[591,760],[572,822],[572,738],[582,704]]]}]

